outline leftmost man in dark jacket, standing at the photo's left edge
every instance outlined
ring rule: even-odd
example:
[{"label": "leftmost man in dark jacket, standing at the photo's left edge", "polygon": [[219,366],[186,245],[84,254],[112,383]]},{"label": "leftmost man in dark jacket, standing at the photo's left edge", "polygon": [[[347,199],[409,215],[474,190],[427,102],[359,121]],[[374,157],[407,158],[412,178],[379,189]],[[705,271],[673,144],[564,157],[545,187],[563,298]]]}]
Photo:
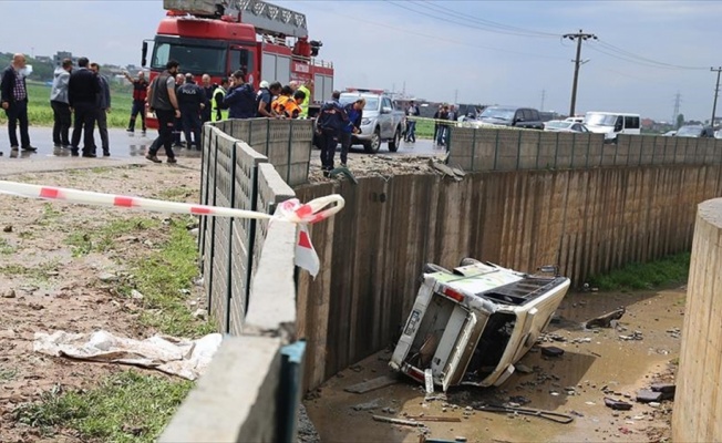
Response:
[{"label": "leftmost man in dark jacket, standing at the photo's left edge", "polygon": [[14,54],[12,63],[2,71],[2,83],[0,83],[0,105],[8,116],[8,135],[10,135],[10,148],[18,151],[17,127],[20,123],[20,142],[23,151],[38,151],[30,145],[28,132],[28,87],[25,86],[25,56]]}]

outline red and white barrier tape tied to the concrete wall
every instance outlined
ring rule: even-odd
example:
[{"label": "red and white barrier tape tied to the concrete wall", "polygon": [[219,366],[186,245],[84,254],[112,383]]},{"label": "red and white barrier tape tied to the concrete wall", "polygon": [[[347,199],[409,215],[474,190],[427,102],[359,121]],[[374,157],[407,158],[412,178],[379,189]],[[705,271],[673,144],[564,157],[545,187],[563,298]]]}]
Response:
[{"label": "red and white barrier tape tied to the concrete wall", "polygon": [[152,210],[156,213],[205,215],[212,217],[255,218],[259,220],[281,220],[299,225],[296,241],[296,264],[313,276],[319,270],[319,259],[311,245],[306,225],[332,217],[343,208],[344,200],[338,194],[314,198],[301,204],[297,198],[282,202],[276,214],[269,215],[254,210],[235,209],[220,206],[193,205],[188,203],[166,202],[152,198],[130,197],[123,195],[94,193],[53,186],[31,185],[27,183],[0,181],[0,194],[18,197],[42,198],[83,205],[115,206],[123,208]]}]

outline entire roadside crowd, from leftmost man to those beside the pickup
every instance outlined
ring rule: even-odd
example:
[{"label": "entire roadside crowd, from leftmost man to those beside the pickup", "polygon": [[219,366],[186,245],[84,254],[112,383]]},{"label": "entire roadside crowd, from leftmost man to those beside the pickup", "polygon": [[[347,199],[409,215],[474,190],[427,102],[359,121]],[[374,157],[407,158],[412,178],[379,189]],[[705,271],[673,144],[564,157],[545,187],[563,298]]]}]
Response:
[{"label": "entire roadside crowd, from leftmost man to those beside the pickup", "polygon": [[[30,144],[28,132],[25,78],[29,74],[23,54],[16,54],[12,63],[2,71],[0,104],[8,116],[12,151],[37,151]],[[123,75],[133,85],[133,104],[126,132],[135,133],[140,115],[142,135],[146,134],[146,109],[158,121],[158,136],[146,154],[146,158],[154,163],[161,163],[157,157],[161,147],[165,150],[168,163],[176,163],[173,147],[200,150],[200,128],[206,122],[256,117],[307,119],[313,86],[310,79],[291,81],[288,85],[278,81],[261,81],[256,91],[251,81],[247,81],[244,70],[223,78],[220,84],[212,83],[210,75],[203,74],[202,84],[197,84],[194,75],[183,74],[178,62],[174,60],[166,64],[166,70],[153,82],[146,79],[143,71],[137,73],[137,78],[125,71]],[[322,150],[324,171],[333,168],[336,144],[332,152],[331,143],[347,141],[345,151],[341,154],[341,162],[345,165],[350,134],[360,131],[363,105],[351,103],[344,109],[339,103],[339,95],[334,92],[334,99],[321,107],[322,126],[318,135],[327,146]],[[70,150],[72,156],[95,157],[99,150],[94,132],[97,126],[102,155],[111,155],[107,131],[107,114],[112,111],[111,87],[101,74],[100,64],[91,63],[82,56],[78,59],[75,68],[72,60],[63,60],[53,73],[50,105],[53,111],[52,137],[55,148]]]}]

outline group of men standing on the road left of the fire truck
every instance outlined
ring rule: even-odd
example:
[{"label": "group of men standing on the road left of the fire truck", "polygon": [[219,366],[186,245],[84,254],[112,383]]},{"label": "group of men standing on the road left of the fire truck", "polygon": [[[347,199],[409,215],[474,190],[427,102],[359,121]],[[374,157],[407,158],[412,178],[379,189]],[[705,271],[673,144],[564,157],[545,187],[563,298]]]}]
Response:
[{"label": "group of men standing on the road left of the fire truck", "polygon": [[[0,82],[0,104],[8,116],[8,135],[11,151],[35,152],[30,143],[28,131],[28,86],[29,75],[25,56],[14,54],[12,62],[2,71]],[[91,63],[87,58],[78,59],[74,69],[70,59],[62,61],[54,72],[50,91],[50,106],[53,110],[53,144],[80,155],[80,142],[83,136],[82,155],[96,156],[94,138],[97,124],[103,155],[111,155],[107,137],[107,117],[111,112],[111,91],[107,81],[100,75],[100,65]],[[72,137],[70,128],[73,127]],[[20,143],[18,143],[18,128]]]}]

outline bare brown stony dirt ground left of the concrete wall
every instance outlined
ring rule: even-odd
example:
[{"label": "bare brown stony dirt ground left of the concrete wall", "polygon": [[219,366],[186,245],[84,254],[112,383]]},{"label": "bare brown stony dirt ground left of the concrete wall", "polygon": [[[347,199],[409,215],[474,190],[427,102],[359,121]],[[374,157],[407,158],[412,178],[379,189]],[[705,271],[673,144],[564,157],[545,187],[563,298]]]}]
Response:
[{"label": "bare brown stony dirt ground left of the concrete wall", "polygon": [[[188,158],[175,167],[94,168],[4,179],[155,198],[167,196],[169,189],[177,196],[185,188],[185,197],[197,202],[199,167],[198,159]],[[125,262],[149,254],[165,233],[143,230],[118,237],[109,253],[76,257],[66,244],[69,236],[132,217],[163,220],[167,216],[0,195],[0,442],[40,439],[39,431],[12,420],[19,404],[38,400],[53,387],[86,388],[126,369],[35,353],[35,332],[105,329],[132,338],[154,333],[137,322],[141,308],[114,293],[110,281],[122,278]],[[51,440],[58,439],[75,441]]]}]

